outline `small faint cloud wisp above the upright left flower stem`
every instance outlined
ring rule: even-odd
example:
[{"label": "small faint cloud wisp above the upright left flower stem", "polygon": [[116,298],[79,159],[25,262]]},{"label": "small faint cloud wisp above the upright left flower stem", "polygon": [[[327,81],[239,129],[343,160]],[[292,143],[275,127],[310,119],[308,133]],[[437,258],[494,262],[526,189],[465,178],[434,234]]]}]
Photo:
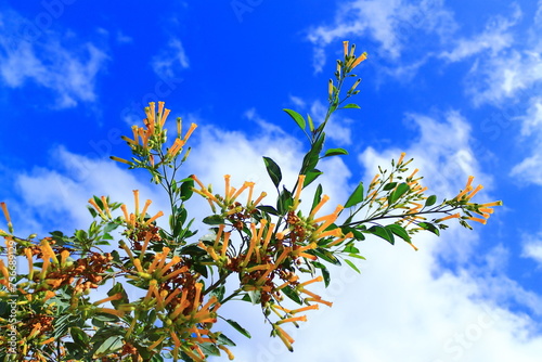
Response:
[{"label": "small faint cloud wisp above the upright left flower stem", "polygon": [[173,78],[180,70],[190,67],[190,62],[181,41],[170,39],[167,48],[153,57],[151,65],[158,76]]}]

